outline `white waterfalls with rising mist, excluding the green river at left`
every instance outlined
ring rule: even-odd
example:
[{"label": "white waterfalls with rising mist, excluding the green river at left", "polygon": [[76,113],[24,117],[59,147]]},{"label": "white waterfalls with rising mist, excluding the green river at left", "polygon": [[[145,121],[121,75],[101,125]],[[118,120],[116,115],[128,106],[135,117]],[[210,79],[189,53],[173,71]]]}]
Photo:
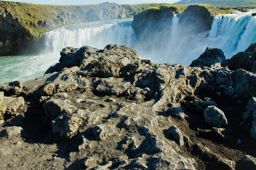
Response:
[{"label": "white waterfalls with rising mist, excluding the green river at left", "polygon": [[207,47],[220,48],[226,58],[231,58],[256,41],[256,17],[251,16],[251,12],[217,15],[209,32],[196,35],[189,31],[184,33],[184,28],[181,31],[177,15],[163,22],[166,23],[162,24],[164,29],[160,31],[152,32],[155,28],[151,27],[144,29],[146,38],[143,40],[136,39],[131,19],[68,25],[47,32],[45,44],[47,51],[55,53],[66,46],[80,48],[88,45],[102,49],[107,44],[121,44],[134,48],[139,57],[151,59],[154,63],[188,66]]}]

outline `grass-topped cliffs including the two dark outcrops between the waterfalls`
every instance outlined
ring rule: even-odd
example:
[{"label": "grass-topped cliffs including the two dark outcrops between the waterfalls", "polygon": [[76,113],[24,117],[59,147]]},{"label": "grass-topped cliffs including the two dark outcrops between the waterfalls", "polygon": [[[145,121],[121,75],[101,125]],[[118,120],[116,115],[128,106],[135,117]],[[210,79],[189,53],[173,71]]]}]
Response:
[{"label": "grass-topped cliffs including the two dark outcrops between the waterfalls", "polygon": [[142,5],[102,3],[85,6],[51,6],[0,1],[0,56],[39,52],[44,46],[45,33],[64,25],[133,18],[133,16],[135,16],[133,28],[138,40],[147,41],[150,40],[150,35],[154,34],[147,29],[159,32],[165,27],[171,27],[171,22],[165,21],[170,20],[174,14],[183,12],[180,18],[182,28],[196,26],[195,31],[201,30],[197,28],[204,28],[205,31],[210,29],[213,15],[226,14],[230,11],[207,5],[186,7],[155,3]]}]

